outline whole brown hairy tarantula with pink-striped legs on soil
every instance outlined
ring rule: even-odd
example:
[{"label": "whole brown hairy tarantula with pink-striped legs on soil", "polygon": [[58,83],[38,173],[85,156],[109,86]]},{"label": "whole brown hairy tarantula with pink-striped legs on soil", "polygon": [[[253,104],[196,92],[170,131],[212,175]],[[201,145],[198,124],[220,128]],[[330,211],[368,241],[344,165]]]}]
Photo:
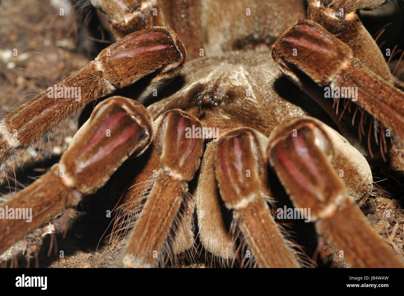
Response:
[{"label": "whole brown hairy tarantula with pink-striped legs on soil", "polygon": [[[133,227],[125,267],[175,266],[195,239],[224,265],[311,265],[270,209],[276,178],[295,212],[309,210],[317,233],[351,266],[404,266],[355,204],[372,192],[372,173],[351,126],[367,135],[372,157],[391,149],[385,129],[404,136],[404,94],[356,14],[385,1],[309,0],[307,15],[300,0],[91,2],[116,43],[2,119],[2,168],[73,111],[137,87],[132,99],[100,102],[59,163],[0,206],[33,213],[31,223],[0,219],[0,253],[122,165],[113,178],[129,183],[116,216],[116,232]],[[276,13],[284,7],[287,17]],[[351,143],[310,116],[306,95],[278,68]],[[358,92],[324,99],[324,86]],[[78,87],[79,97],[66,95]]]}]

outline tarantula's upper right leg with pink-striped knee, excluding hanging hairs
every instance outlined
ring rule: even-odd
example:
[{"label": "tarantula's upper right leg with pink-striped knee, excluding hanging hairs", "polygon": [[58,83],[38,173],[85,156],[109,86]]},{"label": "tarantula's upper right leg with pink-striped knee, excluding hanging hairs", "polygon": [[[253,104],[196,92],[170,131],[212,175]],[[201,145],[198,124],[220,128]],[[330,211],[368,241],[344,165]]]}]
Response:
[{"label": "tarantula's upper right leg with pink-striped knee, excluding hanging hairs", "polygon": [[355,97],[351,97],[353,103],[404,139],[404,92],[372,72],[353,56],[349,46],[317,23],[302,20],[290,27],[274,44],[272,57],[303,90],[304,75],[333,90],[356,89]]}]

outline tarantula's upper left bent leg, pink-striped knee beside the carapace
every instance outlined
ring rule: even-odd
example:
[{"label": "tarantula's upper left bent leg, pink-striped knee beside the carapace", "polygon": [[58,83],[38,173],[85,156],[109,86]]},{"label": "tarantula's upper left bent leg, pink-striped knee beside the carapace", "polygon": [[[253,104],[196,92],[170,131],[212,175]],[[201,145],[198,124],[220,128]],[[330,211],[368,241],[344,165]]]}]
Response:
[{"label": "tarantula's upper left bent leg, pink-striped knee beside the carapace", "polygon": [[[17,149],[42,139],[73,111],[154,73],[151,83],[139,94],[138,101],[143,103],[151,90],[162,88],[181,71],[185,58],[181,40],[165,27],[138,31],[108,46],[86,67],[2,119],[1,169]],[[77,88],[80,96],[74,99],[71,92],[76,93]]]}]

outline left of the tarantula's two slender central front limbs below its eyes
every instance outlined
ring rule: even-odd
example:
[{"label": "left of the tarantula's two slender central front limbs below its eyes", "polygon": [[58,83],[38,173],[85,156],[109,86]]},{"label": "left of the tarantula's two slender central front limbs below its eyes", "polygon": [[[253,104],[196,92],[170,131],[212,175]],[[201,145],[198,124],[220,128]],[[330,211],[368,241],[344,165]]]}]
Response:
[{"label": "left of the tarantula's two slender central front limbs below its eyes", "polygon": [[[194,178],[203,153],[203,139],[189,129],[202,128],[200,121],[174,109],[158,128],[160,170],[126,245],[126,267],[155,267],[163,254],[181,204],[187,198],[188,182]],[[178,234],[178,233],[177,233]]]}]

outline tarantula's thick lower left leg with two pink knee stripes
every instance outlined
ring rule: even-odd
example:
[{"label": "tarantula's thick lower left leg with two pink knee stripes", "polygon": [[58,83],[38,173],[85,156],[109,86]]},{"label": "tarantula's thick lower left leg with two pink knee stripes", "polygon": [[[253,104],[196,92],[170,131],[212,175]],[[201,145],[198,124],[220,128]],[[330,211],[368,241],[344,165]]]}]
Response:
[{"label": "tarantula's thick lower left leg with two pink knee stripes", "polygon": [[[111,97],[94,109],[58,164],[0,206],[10,216],[32,211],[31,221],[0,219],[0,254],[50,218],[76,206],[105,184],[130,154],[140,155],[152,139],[152,121],[143,105]],[[29,223],[28,223],[29,222]]]}]

